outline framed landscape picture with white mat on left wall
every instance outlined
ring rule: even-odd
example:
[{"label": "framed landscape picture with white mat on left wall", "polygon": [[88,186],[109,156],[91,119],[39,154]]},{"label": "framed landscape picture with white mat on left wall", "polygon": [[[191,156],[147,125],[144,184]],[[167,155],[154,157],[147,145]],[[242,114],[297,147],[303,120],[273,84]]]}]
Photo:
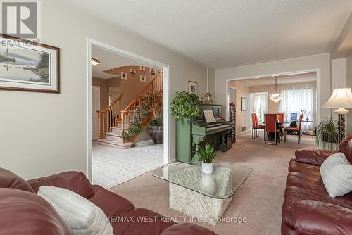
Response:
[{"label": "framed landscape picture with white mat on left wall", "polygon": [[60,93],[60,49],[1,35],[0,89]]}]

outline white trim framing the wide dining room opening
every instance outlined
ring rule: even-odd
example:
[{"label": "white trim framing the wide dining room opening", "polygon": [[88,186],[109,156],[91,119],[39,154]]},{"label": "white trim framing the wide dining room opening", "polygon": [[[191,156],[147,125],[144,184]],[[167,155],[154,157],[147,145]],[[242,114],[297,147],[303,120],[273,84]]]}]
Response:
[{"label": "white trim framing the wide dining room opening", "polygon": [[270,76],[279,76],[279,75],[292,75],[292,74],[300,74],[300,73],[306,73],[306,72],[315,72],[316,73],[316,76],[317,76],[317,84],[316,84],[316,103],[317,103],[317,106],[316,106],[316,114],[315,114],[315,123],[318,123],[319,119],[320,119],[320,97],[319,97],[319,94],[320,94],[320,69],[317,68],[317,69],[312,69],[312,70],[298,70],[298,71],[291,71],[291,72],[278,72],[278,73],[272,73],[272,74],[267,74],[267,75],[256,75],[256,76],[250,76],[250,77],[237,77],[237,78],[230,78],[230,79],[227,79],[225,82],[226,82],[226,117],[225,117],[225,120],[229,120],[229,99],[228,99],[228,96],[229,96],[229,83],[230,81],[233,81],[233,80],[244,80],[244,79],[260,79],[262,77],[270,77]]}]

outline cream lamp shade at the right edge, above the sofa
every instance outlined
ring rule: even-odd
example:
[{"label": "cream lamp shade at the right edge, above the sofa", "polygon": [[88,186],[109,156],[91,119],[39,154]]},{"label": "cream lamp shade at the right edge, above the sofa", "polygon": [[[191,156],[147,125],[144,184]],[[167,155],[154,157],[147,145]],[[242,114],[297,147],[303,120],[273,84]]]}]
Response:
[{"label": "cream lamp shade at the right edge, above the sofa", "polygon": [[351,88],[337,88],[322,108],[352,108]]}]

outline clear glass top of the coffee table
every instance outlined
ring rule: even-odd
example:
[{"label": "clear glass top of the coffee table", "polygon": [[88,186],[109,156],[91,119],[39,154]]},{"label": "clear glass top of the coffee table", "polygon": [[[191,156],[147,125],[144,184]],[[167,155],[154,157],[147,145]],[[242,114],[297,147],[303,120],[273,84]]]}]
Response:
[{"label": "clear glass top of the coffee table", "polygon": [[253,169],[236,163],[214,163],[213,174],[203,174],[201,165],[174,163],[153,171],[153,176],[218,199],[230,198],[246,181]]}]

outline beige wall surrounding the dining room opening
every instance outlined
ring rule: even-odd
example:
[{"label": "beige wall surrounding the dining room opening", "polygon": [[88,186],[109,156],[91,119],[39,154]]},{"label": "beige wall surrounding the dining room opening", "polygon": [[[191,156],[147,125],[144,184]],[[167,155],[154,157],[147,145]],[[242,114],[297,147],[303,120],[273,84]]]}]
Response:
[{"label": "beige wall surrounding the dining room opening", "polygon": [[319,108],[322,103],[329,99],[331,92],[329,53],[215,70],[215,102],[222,104],[223,108],[225,108],[226,80],[316,69],[319,70],[317,83],[317,91],[319,92],[318,111],[320,116],[329,116],[329,109]]}]

